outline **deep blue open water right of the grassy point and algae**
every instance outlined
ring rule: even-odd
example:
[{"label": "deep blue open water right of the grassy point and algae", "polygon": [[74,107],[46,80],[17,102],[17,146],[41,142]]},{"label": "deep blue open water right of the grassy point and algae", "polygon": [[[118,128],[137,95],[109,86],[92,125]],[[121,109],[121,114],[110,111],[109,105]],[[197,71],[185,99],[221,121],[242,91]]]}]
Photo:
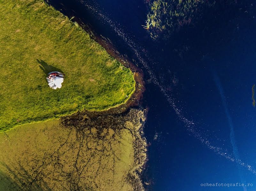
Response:
[{"label": "deep blue open water right of the grassy point and algae", "polygon": [[[255,20],[227,28],[230,40],[215,35],[210,42],[220,43],[181,57],[170,42],[154,42],[143,29],[148,11],[143,0],[49,2],[109,38],[144,70],[147,189],[256,190]],[[238,186],[201,186],[205,183]]]}]

